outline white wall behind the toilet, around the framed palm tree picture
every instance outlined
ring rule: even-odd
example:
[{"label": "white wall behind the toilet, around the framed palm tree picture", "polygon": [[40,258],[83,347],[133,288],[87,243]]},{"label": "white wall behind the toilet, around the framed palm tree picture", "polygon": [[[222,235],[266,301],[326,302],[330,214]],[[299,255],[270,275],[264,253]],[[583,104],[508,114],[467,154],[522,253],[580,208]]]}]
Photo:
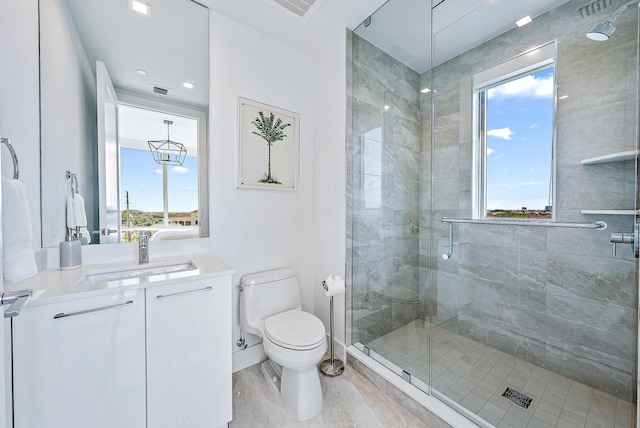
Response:
[{"label": "white wall behind the toilet, around the framed palm tree picture", "polygon": [[[210,241],[242,275],[292,267],[302,306],[313,310],[314,89],[312,57],[211,11],[209,125]],[[300,113],[300,177],[295,192],[236,188],[237,99]],[[233,338],[239,337],[233,293]],[[255,341],[254,341],[255,342]]]}]

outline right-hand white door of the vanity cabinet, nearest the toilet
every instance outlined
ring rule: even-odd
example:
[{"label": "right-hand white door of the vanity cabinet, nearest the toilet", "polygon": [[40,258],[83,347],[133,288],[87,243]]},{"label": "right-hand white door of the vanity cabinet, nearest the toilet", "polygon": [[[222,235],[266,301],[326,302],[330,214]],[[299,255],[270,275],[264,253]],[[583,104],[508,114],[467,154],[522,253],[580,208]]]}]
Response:
[{"label": "right-hand white door of the vanity cabinet, nearest the toilet", "polygon": [[148,288],[148,427],[224,425],[231,394],[231,278]]}]

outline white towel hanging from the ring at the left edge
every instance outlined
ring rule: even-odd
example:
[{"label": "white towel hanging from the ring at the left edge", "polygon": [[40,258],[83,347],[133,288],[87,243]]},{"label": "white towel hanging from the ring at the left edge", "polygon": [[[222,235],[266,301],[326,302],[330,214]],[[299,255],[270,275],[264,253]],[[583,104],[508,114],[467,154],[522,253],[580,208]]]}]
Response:
[{"label": "white towel hanging from the ring at the left edge", "polygon": [[27,190],[18,180],[2,177],[2,268],[6,282],[38,273]]}]

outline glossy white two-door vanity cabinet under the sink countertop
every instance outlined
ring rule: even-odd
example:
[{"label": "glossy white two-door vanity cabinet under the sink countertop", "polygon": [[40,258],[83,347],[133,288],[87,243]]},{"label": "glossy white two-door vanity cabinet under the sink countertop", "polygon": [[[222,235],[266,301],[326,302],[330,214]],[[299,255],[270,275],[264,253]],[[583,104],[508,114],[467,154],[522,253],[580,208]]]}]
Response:
[{"label": "glossy white two-door vanity cabinet under the sink countertop", "polygon": [[15,428],[226,426],[230,274],[83,295],[13,318]]}]

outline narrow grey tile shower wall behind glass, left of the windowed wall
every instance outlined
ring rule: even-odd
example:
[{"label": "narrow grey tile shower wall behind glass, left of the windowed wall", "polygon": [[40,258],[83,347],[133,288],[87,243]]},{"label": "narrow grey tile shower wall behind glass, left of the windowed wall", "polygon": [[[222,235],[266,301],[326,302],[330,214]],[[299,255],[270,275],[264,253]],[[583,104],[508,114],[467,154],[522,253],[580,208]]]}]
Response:
[{"label": "narrow grey tile shower wall behind glass, left of the windowed wall", "polygon": [[424,316],[420,76],[359,36],[349,38],[351,340],[367,343]]}]

